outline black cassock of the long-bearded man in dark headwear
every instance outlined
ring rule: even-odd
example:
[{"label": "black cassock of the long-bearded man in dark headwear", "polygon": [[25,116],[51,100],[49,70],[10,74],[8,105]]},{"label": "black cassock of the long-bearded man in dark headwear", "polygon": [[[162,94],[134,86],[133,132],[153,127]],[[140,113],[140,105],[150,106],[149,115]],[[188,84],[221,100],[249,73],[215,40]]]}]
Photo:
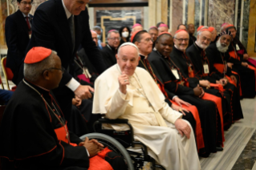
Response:
[{"label": "black cassock of the long-bearded man in dark headwear", "polygon": [[[230,55],[228,52],[226,53],[221,53],[220,51],[217,50],[216,43],[213,43],[209,45],[209,47],[206,48],[206,53],[207,57],[209,59],[209,66],[213,67],[213,64],[218,63],[225,65],[225,63],[230,63],[230,60],[232,61]],[[225,66],[226,67],[226,66]],[[215,67],[214,67],[215,68]],[[209,68],[210,70],[213,70],[214,68]],[[217,69],[214,69],[215,74],[219,75],[220,77],[224,77],[224,72],[221,73]],[[226,70],[226,75],[234,75],[231,71],[230,67],[227,67]],[[239,82],[239,79],[238,79]],[[242,119],[243,114],[242,114],[242,107],[240,103],[240,95],[239,95],[239,87],[237,83],[237,87],[234,86],[234,84],[227,83],[226,86],[224,87],[227,91],[230,91],[231,95],[231,115],[224,115],[224,120],[226,120],[226,123],[234,123],[234,120]],[[231,119],[230,119],[231,118]]]}]

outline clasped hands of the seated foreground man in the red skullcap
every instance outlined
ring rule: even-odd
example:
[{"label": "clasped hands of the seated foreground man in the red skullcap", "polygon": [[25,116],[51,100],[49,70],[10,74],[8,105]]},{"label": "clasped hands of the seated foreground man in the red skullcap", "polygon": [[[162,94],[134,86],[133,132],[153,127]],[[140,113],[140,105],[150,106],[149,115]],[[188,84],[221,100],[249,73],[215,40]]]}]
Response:
[{"label": "clasped hands of the seated foreground man in the red skullcap", "polygon": [[104,145],[100,144],[98,140],[89,140],[87,137],[85,138],[84,142],[80,142],[79,146],[87,148],[90,157],[97,155],[98,152],[104,149]]}]

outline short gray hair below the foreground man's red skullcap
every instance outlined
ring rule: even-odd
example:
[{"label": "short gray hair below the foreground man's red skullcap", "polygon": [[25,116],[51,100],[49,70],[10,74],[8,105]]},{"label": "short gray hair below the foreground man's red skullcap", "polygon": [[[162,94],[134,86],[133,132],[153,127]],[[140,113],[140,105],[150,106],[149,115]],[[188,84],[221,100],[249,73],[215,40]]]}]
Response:
[{"label": "short gray hair below the foreground man's red skullcap", "polygon": [[39,80],[40,75],[44,70],[47,70],[51,67],[55,67],[55,59],[53,55],[57,55],[56,51],[51,51],[51,55],[47,57],[47,59],[43,59],[43,61],[39,63],[24,63],[24,77],[28,79],[30,82],[35,82]]}]

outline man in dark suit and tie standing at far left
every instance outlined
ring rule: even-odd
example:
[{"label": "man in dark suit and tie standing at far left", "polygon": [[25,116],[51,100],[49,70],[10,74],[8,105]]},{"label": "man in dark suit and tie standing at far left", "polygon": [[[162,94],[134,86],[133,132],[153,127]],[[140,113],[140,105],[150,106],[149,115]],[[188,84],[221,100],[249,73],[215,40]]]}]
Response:
[{"label": "man in dark suit and tie standing at far left", "polygon": [[[6,67],[16,75],[18,67],[25,57],[26,46],[30,42],[31,23],[30,13],[33,0],[17,0],[18,10],[6,18],[6,43],[8,47]],[[17,72],[16,72],[17,71]]]}]

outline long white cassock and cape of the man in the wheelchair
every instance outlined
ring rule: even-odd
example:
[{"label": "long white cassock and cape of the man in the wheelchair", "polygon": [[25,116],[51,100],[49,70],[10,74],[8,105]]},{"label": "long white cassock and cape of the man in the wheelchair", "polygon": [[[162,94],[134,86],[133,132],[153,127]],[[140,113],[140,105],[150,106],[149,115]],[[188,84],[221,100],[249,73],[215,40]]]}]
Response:
[{"label": "long white cassock and cape of the man in the wheelchair", "polygon": [[[109,119],[128,119],[135,140],[145,144],[148,154],[166,169],[201,169],[193,130],[190,139],[181,137],[174,123],[182,114],[165,103],[165,96],[151,75],[136,67],[125,95],[119,90],[120,75],[116,64],[96,79],[92,113],[106,114]],[[124,125],[112,127],[127,130]]]}]

